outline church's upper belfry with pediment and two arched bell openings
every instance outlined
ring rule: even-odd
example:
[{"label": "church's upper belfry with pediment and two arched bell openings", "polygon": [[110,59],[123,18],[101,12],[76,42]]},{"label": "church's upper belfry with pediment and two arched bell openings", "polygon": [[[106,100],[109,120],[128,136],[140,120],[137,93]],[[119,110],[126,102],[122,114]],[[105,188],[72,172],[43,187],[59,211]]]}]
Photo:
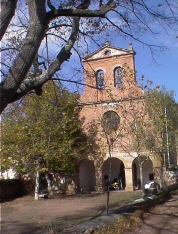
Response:
[{"label": "church's upper belfry with pediment and two arched bell openings", "polygon": [[98,103],[138,96],[135,79],[135,52],[111,46],[107,41],[101,48],[83,58],[85,89],[82,103]]}]

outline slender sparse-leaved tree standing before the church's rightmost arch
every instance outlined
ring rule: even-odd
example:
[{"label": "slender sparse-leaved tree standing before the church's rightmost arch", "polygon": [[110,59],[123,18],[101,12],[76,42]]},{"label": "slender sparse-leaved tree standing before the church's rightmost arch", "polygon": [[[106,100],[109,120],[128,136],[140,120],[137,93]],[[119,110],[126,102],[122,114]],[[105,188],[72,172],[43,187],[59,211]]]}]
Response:
[{"label": "slender sparse-leaved tree standing before the church's rightmost arch", "polygon": [[120,104],[120,110],[121,124],[116,142],[123,152],[138,161],[142,194],[144,195],[143,167],[152,156],[146,148],[151,121],[145,108],[144,97],[130,98]]}]

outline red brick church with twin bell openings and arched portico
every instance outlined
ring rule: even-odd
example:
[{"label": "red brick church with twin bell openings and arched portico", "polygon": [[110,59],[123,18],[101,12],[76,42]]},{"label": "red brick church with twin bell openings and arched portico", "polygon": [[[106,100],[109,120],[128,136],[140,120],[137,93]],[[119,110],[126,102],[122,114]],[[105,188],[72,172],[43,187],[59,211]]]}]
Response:
[{"label": "red brick church with twin bell openings and arched portico", "polygon": [[[91,138],[91,153],[79,164],[78,188],[80,191],[97,190],[104,187],[109,176],[109,151],[101,126],[106,113],[116,113],[120,125],[124,122],[122,106],[130,100],[143,102],[143,91],[135,79],[135,52],[131,44],[128,49],[117,48],[106,42],[83,59],[85,89],[80,98],[80,117],[83,128]],[[127,74],[126,74],[127,71]],[[96,143],[96,147],[95,147]],[[99,146],[97,148],[97,146]],[[96,148],[95,151],[93,148]],[[123,188],[133,190],[140,179],[136,152],[127,153],[117,145],[111,149],[111,182],[122,177]],[[149,159],[143,165],[143,184],[153,180],[153,162]]]}]

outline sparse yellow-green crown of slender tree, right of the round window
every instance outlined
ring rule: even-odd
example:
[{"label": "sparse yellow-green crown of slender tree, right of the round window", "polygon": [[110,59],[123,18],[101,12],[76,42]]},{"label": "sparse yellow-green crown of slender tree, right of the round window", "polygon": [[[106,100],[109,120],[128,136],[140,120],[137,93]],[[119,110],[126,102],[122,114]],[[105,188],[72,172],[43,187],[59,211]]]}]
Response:
[{"label": "sparse yellow-green crown of slender tree, right of the round window", "polygon": [[145,151],[149,124],[143,97],[142,99],[131,99],[122,105],[118,144],[131,157],[134,157],[133,153],[136,152],[140,162],[140,156]]}]

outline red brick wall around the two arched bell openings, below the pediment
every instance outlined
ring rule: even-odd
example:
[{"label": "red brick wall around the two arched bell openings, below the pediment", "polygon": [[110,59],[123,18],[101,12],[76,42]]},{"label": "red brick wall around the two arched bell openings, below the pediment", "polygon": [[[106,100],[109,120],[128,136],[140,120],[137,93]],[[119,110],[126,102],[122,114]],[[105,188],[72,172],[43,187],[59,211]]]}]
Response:
[{"label": "red brick wall around the two arched bell openings, below the pediment", "polygon": [[[126,66],[124,65],[126,64]],[[126,68],[127,75],[123,77],[122,88],[114,87],[114,68],[121,66]],[[104,71],[105,89],[98,90],[96,87],[95,72],[99,69]],[[130,90],[133,95],[141,94],[135,81],[134,54],[112,56],[95,60],[84,61],[85,70],[85,90],[81,97],[81,102],[97,102],[104,100],[117,100],[128,97]],[[129,71],[130,70],[130,71]],[[93,86],[94,88],[88,87]],[[129,90],[129,91],[128,91]]]}]

